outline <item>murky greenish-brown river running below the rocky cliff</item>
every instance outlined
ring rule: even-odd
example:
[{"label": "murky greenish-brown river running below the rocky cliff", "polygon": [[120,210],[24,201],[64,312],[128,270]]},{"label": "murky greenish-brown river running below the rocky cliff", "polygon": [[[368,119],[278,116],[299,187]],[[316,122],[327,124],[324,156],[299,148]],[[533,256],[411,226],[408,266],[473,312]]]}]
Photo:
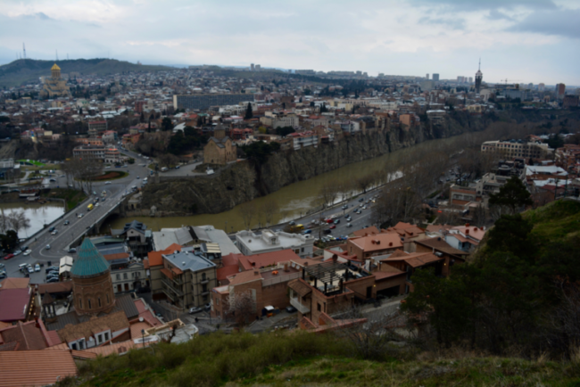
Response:
[{"label": "murky greenish-brown river running below the rocky cliff", "polygon": [[[469,136],[469,134],[462,136]],[[402,160],[405,160],[404,156],[418,154],[415,152],[427,152],[427,150],[434,149],[438,145],[449,144],[457,141],[462,136],[427,141],[409,148],[403,148],[396,152],[386,153],[374,159],[352,163],[340,169],[321,174],[317,177],[294,183],[292,185],[286,185],[275,193],[270,193],[267,196],[254,199],[253,204],[256,208],[260,208],[265,202],[270,200],[278,202],[280,210],[278,214],[274,216],[275,224],[293,218],[300,218],[308,210],[317,206],[320,188],[325,185],[325,183],[344,179],[348,180],[372,173],[378,173],[382,169],[385,169],[385,165],[388,165],[391,169],[399,168],[402,166]],[[107,228],[122,228],[125,223],[136,219],[145,223],[145,225],[153,231],[158,231],[162,227],[170,228],[180,226],[213,225],[216,228],[226,229],[228,233],[232,233],[244,229],[244,222],[240,216],[238,207],[239,206],[232,210],[220,212],[219,214],[203,214],[189,217],[117,218],[105,226],[107,226]],[[254,226],[259,226],[257,220]]]}]

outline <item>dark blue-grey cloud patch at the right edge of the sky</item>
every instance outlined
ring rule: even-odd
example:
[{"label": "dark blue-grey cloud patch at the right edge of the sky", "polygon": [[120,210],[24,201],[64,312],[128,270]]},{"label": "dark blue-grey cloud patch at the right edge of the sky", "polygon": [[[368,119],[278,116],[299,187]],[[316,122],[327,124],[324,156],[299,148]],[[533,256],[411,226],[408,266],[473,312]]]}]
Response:
[{"label": "dark blue-grey cloud patch at the right edge of the sky", "polygon": [[[580,10],[534,12],[506,29],[510,32],[534,32],[543,35],[580,38]],[[577,48],[577,47],[576,47]]]}]

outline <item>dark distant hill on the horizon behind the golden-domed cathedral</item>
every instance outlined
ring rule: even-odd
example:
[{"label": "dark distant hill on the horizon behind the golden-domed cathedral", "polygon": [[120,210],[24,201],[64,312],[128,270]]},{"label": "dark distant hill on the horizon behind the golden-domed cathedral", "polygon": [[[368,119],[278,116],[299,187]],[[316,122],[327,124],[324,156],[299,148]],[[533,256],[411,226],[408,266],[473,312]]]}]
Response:
[{"label": "dark distant hill on the horizon behind the golden-domed cathedral", "polygon": [[0,66],[0,86],[20,86],[29,82],[36,83],[42,76],[50,76],[50,68],[56,63],[62,74],[79,72],[81,75],[109,75],[123,71],[159,71],[175,70],[167,66],[149,66],[115,59],[74,59],[67,61],[37,61],[20,59]]}]

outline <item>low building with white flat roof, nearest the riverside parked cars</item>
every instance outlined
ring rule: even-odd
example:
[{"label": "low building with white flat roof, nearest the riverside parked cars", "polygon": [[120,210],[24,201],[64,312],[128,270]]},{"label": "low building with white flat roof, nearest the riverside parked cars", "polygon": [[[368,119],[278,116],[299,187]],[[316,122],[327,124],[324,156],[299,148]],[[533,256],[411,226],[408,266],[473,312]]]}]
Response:
[{"label": "low building with white flat roof, nearest the riverside parked cars", "polygon": [[236,233],[236,244],[244,255],[292,249],[300,258],[307,258],[312,256],[314,239],[311,235],[274,232],[269,229],[264,229],[261,235],[244,230]]}]

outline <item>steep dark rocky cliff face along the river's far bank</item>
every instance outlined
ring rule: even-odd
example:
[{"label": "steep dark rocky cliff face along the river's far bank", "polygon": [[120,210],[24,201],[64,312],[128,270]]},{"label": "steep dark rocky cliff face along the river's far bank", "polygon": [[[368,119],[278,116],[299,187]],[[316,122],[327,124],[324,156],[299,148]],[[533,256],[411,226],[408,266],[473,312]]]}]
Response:
[{"label": "steep dark rocky cliff face along the river's far bank", "polygon": [[148,210],[155,205],[166,215],[218,213],[352,162],[369,160],[435,138],[484,130],[491,122],[489,116],[457,113],[440,126],[422,123],[408,131],[402,128],[371,131],[318,148],[278,152],[261,166],[239,162],[211,177],[161,177],[160,183],[151,182],[145,187],[141,208]]}]

